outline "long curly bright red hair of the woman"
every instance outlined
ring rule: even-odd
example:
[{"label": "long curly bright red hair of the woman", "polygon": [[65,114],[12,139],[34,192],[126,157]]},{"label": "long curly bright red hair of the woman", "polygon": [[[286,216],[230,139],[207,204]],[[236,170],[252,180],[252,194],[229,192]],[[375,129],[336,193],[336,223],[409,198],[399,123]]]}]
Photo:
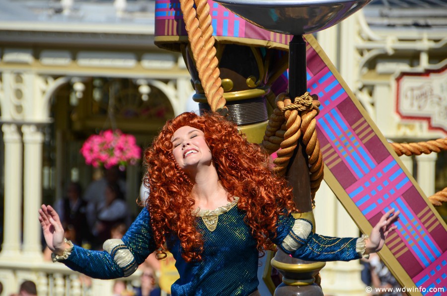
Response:
[{"label": "long curly bright red hair of the woman", "polygon": [[270,171],[269,155],[259,145],[248,143],[235,124],[218,114],[198,116],[186,112],[167,121],[145,151],[144,182],[150,188],[146,207],[158,254],[165,254],[169,234],[180,240],[186,262],[202,259],[203,238],[191,215],[195,202],[190,193],[194,184],[172,154],[172,135],[182,126],[205,133],[219,179],[229,196],[239,197],[237,208],[246,213],[244,222],[251,228],[257,249],[261,253],[271,249],[269,236],[275,233],[278,217],[295,209],[292,189],[284,178]]}]

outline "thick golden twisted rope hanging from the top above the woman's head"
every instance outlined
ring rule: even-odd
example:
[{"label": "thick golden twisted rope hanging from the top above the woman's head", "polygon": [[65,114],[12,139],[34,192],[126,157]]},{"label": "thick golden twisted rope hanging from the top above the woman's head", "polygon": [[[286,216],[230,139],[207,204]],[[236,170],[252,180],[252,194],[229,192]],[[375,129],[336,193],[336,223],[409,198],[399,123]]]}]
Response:
[{"label": "thick golden twisted rope hanging from the top above the woman's head", "polygon": [[[197,10],[194,7],[197,6]],[[188,40],[191,44],[199,78],[202,83],[205,96],[211,111],[226,115],[223,97],[224,89],[218,68],[219,61],[216,57],[215,39],[211,26],[210,6],[207,0],[181,0],[180,8],[183,13]]]}]

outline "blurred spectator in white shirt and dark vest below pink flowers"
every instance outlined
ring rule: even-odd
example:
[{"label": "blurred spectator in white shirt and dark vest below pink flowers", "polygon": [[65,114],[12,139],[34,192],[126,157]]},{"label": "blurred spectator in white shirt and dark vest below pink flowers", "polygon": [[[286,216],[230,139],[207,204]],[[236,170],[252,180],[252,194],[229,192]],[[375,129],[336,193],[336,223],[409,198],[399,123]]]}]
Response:
[{"label": "blurred spectator in white shirt and dark vest below pink flowers", "polygon": [[123,192],[118,183],[108,183],[105,188],[105,199],[97,206],[96,222],[93,228],[97,246],[111,238],[112,226],[117,223],[130,224],[129,210]]}]

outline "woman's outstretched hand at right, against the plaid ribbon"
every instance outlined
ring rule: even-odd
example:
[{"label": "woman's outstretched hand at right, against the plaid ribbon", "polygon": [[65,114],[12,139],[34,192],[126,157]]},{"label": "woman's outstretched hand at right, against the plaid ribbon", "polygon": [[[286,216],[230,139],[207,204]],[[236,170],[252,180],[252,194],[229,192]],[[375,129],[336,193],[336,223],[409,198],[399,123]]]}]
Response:
[{"label": "woman's outstretched hand at right, against the plaid ribbon", "polygon": [[396,222],[400,211],[396,211],[395,213],[394,211],[394,209],[391,209],[386,212],[382,218],[380,218],[380,221],[375,224],[373,230],[371,230],[369,239],[366,239],[365,241],[365,254],[380,251],[385,244],[385,239],[388,233],[397,228],[393,223]]}]

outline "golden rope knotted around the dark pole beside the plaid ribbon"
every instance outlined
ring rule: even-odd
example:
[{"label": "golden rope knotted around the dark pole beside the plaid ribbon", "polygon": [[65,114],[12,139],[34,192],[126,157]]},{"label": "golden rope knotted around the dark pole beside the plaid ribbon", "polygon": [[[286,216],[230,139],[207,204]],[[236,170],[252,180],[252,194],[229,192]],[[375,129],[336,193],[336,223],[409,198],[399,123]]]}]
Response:
[{"label": "golden rope knotted around the dark pole beside the plaid ribbon", "polygon": [[273,153],[278,150],[278,157],[274,160],[274,172],[285,174],[298,140],[303,135],[305,151],[309,155],[310,193],[314,205],[315,193],[323,179],[323,156],[320,143],[316,135],[315,117],[319,113],[320,102],[316,95],[308,92],[296,97],[294,102],[281,93],[277,96],[276,108],[270,116],[268,126],[262,141],[262,146]]}]

